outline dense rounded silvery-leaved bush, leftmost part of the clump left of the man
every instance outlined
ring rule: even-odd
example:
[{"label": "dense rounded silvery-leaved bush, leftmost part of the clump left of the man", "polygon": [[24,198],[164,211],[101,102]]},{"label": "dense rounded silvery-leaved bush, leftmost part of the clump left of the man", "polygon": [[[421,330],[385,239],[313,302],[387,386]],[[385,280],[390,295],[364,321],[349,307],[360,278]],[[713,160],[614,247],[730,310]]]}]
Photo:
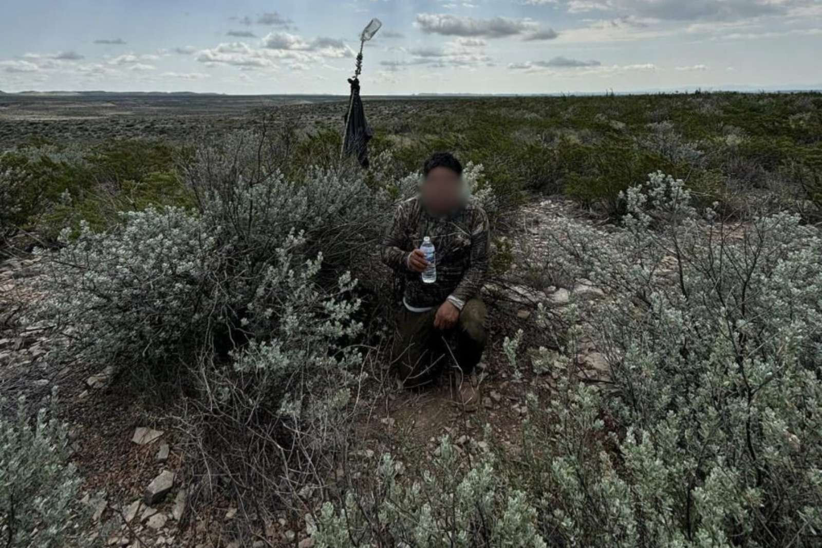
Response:
[{"label": "dense rounded silvery-leaved bush, leftmost part of the clump left of the man", "polygon": [[214,274],[225,265],[217,234],[178,208],[122,213],[104,232],[64,231],[57,252],[40,251],[44,299],[31,321],[65,335],[56,363],[77,362],[138,377],[172,373],[208,344],[208,326],[229,322]]}]

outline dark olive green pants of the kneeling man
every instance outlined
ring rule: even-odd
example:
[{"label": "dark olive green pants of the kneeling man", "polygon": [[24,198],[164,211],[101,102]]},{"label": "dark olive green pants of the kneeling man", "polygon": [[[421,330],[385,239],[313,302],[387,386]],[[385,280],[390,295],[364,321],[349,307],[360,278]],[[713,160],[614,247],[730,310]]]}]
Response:
[{"label": "dark olive green pants of the kneeling man", "polygon": [[486,315],[482,300],[469,300],[457,325],[442,331],[434,327],[436,308],[411,312],[403,307],[397,315],[392,355],[405,386],[432,383],[447,367],[458,366],[470,374],[485,350]]}]

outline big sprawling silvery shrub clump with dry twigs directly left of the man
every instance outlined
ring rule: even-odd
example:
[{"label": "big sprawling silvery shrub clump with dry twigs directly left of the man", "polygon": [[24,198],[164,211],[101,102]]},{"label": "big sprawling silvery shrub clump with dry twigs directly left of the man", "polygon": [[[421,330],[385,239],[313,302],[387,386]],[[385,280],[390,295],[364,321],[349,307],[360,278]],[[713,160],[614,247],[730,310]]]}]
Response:
[{"label": "big sprawling silvery shrub clump with dry twigs directly left of the man", "polygon": [[187,399],[170,412],[191,449],[192,509],[229,489],[261,519],[292,493],[283,485],[316,485],[318,459],[344,439],[363,364],[348,271],[374,270],[393,211],[347,165],[287,179],[263,138],[199,147],[182,167],[192,209],[127,211],[40,252],[44,298],[29,316],[63,341],[53,363],[179,383]]}]

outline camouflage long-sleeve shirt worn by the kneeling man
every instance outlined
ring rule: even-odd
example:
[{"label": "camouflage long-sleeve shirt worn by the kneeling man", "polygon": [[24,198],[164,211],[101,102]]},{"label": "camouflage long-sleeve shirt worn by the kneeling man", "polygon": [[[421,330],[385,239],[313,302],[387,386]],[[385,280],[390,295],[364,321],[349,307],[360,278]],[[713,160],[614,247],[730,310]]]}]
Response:
[{"label": "camouflage long-sleeve shirt worn by the kneeling man", "polygon": [[[430,236],[436,249],[436,282],[423,283],[408,267],[409,254]],[[439,306],[446,300],[458,309],[478,295],[488,268],[488,217],[473,201],[455,213],[431,216],[419,197],[401,202],[382,242],[382,262],[406,277],[405,305]]]}]

